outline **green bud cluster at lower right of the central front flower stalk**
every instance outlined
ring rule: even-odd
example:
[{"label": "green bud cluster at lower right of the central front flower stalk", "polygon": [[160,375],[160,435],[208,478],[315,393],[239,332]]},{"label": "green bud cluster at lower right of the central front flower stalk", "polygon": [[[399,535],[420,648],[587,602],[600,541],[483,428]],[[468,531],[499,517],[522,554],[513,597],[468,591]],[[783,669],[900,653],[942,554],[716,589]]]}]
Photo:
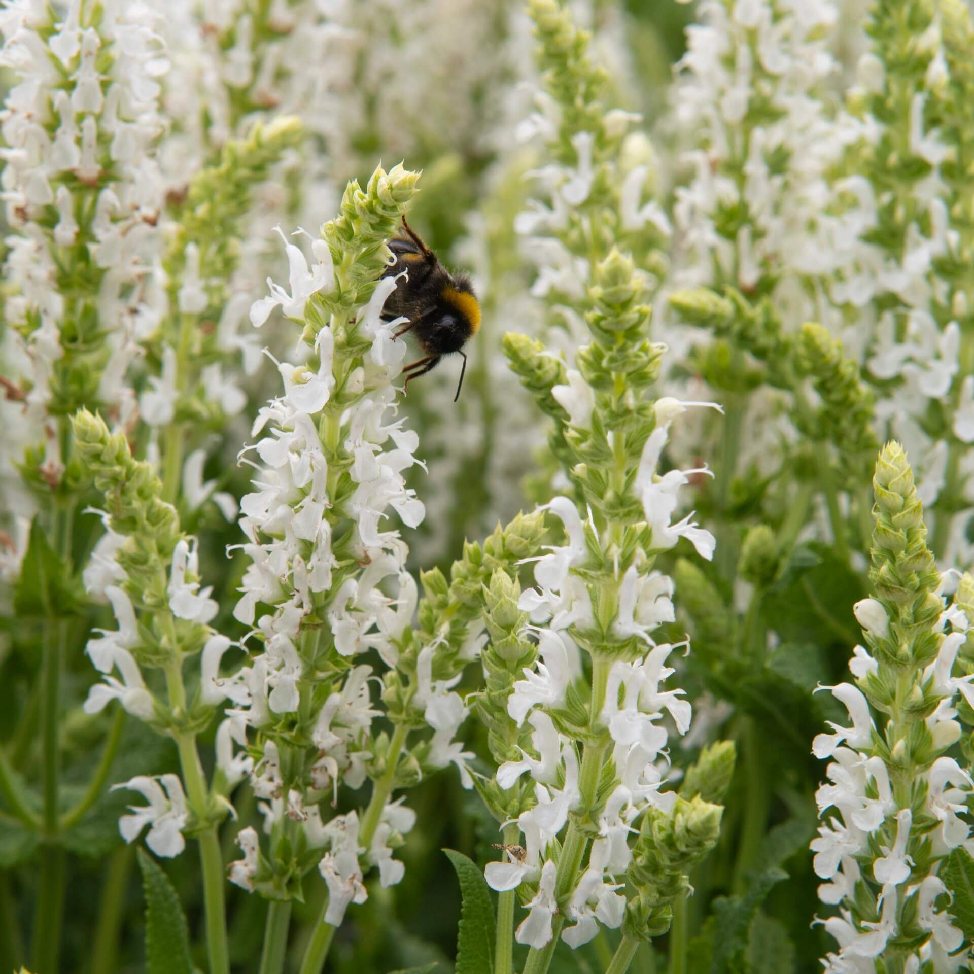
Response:
[{"label": "green bud cluster at lower right of the central front flower stalk", "polygon": [[650,808],[633,846],[626,880],[636,894],[626,905],[622,932],[649,940],[664,934],[673,917],[673,904],[690,892],[688,873],[720,838],[722,805],[699,795],[677,798],[669,813]]}]

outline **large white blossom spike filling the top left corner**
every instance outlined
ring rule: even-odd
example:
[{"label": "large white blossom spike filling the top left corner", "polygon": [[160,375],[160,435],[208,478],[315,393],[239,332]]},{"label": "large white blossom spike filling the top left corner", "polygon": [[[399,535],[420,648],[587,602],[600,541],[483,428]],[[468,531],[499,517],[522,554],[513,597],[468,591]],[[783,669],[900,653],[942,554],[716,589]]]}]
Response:
[{"label": "large white blossom spike filling the top left corner", "polygon": [[97,401],[125,423],[135,404],[126,374],[152,326],[142,295],[164,184],[150,150],[169,61],[150,12],[130,0],[72,0],[63,19],[22,0],[0,13],[0,31],[13,77],[0,150],[11,285],[3,452],[12,463],[46,440],[44,475],[56,481],[52,408]]}]

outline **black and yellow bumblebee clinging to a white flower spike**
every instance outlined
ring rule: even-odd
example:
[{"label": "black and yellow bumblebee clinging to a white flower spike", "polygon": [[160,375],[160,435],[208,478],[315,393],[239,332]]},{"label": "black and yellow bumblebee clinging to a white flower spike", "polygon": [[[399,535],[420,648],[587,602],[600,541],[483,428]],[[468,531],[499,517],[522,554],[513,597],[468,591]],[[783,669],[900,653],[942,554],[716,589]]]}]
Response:
[{"label": "black and yellow bumblebee clinging to a white flower spike", "polygon": [[457,394],[453,397],[456,402],[467,371],[464,345],[480,328],[480,305],[470,279],[466,274],[450,274],[405,217],[402,218],[402,233],[393,237],[389,249],[393,251],[395,263],[383,277],[398,277],[403,271],[408,274],[396,282],[382,317],[386,321],[409,318],[393,332],[393,339],[412,331],[426,353],[403,368],[406,376],[403,392],[411,380],[426,375],[443,356],[456,352],[464,359]]}]

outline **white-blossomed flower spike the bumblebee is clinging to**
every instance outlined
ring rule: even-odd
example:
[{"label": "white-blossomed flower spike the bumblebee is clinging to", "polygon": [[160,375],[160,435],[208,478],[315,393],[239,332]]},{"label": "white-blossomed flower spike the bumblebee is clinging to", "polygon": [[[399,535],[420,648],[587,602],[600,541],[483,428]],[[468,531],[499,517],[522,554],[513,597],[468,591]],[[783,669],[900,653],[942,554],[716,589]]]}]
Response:
[{"label": "white-blossomed flower spike the bumblebee is clinging to", "polygon": [[[365,898],[362,877],[370,865],[384,886],[401,878],[393,848],[415,820],[389,800],[388,788],[363,818],[352,811],[322,823],[319,811],[340,784],[355,789],[367,776],[379,777],[372,732],[379,711],[369,686],[381,678],[356,658],[375,650],[394,668],[417,604],[405,569],[408,547],[385,523],[394,514],[416,527],[425,513],[403,477],[419,463],[418,437],[394,415],[393,380],[405,346],[392,336],[402,319],[381,318],[397,281],[374,282],[367,301],[340,305],[363,286],[347,255],[363,247],[380,252],[415,178],[397,167],[388,175],[378,169],[365,193],[351,184],[342,217],[312,244],[311,267],[298,246],[285,242],[289,289],[271,282],[271,294],[250,312],[260,326],[280,307],[314,335],[314,352],[307,365],[278,363],[284,392],[261,408],[253,427],[258,438],[241,455],[256,473],[255,490],[241,505],[249,565],[235,616],[254,626],[244,641],[258,640],[261,652],[232,678],[239,694],[234,715],[258,731],[262,756],[250,780],[272,837],[268,859],[284,823],[298,823],[304,841],[320,850],[318,868],[329,889],[324,921],[332,925],[349,903]],[[371,220],[358,222],[370,212]],[[381,253],[369,266],[382,273]],[[391,583],[394,596],[387,594]],[[453,737],[466,716],[463,701],[432,681],[429,664],[424,675],[422,655],[416,673],[416,702],[425,704],[435,729],[429,763],[462,762]],[[293,743],[296,730],[313,742],[308,760]],[[390,749],[386,757],[391,784],[398,755]],[[245,855],[231,877],[260,888],[269,877],[258,869],[256,834],[244,830],[239,841]]]}]

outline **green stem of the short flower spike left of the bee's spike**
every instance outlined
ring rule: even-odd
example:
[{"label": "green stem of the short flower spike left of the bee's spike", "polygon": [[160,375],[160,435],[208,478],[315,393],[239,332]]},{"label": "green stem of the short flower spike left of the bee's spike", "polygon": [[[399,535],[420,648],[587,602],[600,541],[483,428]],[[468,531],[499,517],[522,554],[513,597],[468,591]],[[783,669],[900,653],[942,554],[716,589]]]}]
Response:
[{"label": "green stem of the short flower spike left of the bee's spike", "polygon": [[[169,638],[176,647],[175,626],[169,616]],[[186,709],[186,690],[182,682],[182,660],[177,656],[166,667],[166,683],[169,688],[169,705],[174,713]],[[206,821],[208,812],[206,778],[196,749],[196,734],[175,734],[179,751],[179,767],[190,810],[200,821]],[[209,957],[209,974],[230,974],[230,955],[227,948],[226,904],[223,897],[223,857],[216,826],[211,825],[201,833],[200,863],[203,868],[203,892],[206,913],[206,953]]]}]

